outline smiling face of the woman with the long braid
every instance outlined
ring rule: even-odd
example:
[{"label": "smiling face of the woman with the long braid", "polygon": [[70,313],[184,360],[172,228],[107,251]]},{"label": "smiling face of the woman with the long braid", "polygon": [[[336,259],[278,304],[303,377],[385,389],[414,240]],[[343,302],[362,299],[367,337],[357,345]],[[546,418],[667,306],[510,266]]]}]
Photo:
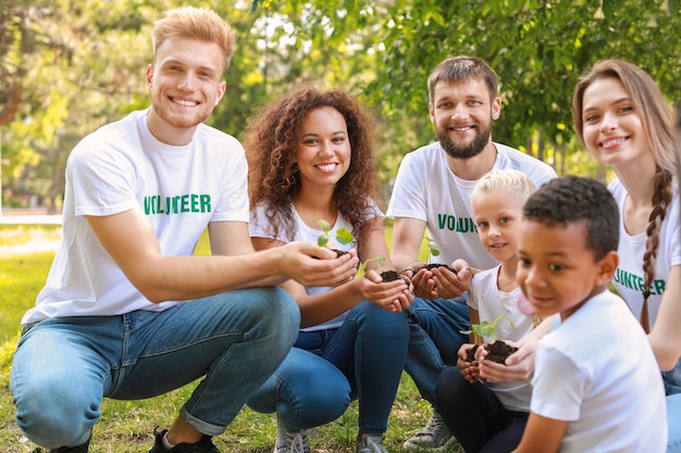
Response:
[{"label": "smiling face of the woman with the long braid", "polygon": [[595,80],[582,101],[584,144],[598,162],[617,167],[653,159],[636,105],[619,79]]}]

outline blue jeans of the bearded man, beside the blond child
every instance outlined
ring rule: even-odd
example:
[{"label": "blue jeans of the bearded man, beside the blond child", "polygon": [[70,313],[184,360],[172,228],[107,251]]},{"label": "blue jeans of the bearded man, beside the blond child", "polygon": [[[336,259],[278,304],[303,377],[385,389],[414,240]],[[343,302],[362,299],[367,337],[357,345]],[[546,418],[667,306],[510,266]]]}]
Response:
[{"label": "blue jeans of the bearded man, beside the blond child", "polygon": [[409,353],[405,369],[421,397],[437,408],[435,388],[445,366],[456,365],[457,352],[469,342],[466,294],[457,299],[414,299],[407,310]]}]

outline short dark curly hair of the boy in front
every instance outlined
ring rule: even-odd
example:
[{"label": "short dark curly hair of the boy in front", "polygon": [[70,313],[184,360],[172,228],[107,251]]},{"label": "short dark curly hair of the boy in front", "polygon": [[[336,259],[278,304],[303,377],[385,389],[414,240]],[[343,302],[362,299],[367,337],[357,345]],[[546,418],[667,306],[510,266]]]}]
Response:
[{"label": "short dark curly hair of the boy in front", "polygon": [[530,197],[522,213],[523,218],[548,226],[583,222],[585,244],[596,261],[617,251],[619,210],[599,180],[574,175],[552,179]]}]

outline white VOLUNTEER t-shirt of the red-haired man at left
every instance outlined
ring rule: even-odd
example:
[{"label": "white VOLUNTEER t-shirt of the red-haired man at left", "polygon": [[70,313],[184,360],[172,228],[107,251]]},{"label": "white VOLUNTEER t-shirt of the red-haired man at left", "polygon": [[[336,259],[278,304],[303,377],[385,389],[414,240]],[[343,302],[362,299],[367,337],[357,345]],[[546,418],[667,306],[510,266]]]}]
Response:
[{"label": "white VOLUNTEER t-shirt of the red-haired man at left", "polygon": [[36,306],[22,324],[53,316],[163,311],[125,277],[85,216],[139,210],[164,255],[190,255],[209,222],[248,222],[248,167],[238,140],[200,124],[191,142],[172,147],[147,127],[148,110],[86,136],[71,152],[63,239]]}]

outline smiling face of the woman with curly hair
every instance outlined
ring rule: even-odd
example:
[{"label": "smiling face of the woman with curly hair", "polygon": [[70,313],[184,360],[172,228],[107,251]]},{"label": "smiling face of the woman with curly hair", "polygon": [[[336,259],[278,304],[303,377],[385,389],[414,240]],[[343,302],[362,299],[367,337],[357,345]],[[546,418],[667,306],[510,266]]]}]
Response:
[{"label": "smiling face of the woman with curly hair", "polygon": [[350,166],[345,117],[331,106],[310,111],[296,135],[296,151],[301,186],[333,188]]}]

